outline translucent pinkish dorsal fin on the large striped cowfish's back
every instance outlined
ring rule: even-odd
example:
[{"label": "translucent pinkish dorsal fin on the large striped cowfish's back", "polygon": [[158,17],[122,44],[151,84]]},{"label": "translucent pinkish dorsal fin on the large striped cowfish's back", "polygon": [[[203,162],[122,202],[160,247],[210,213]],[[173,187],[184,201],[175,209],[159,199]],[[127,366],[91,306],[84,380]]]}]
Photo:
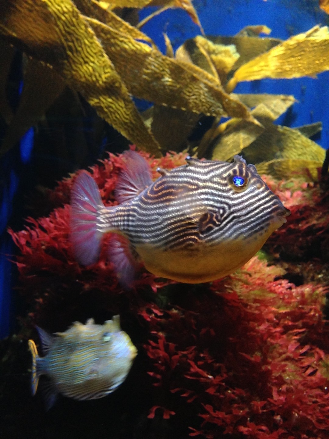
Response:
[{"label": "translucent pinkish dorsal fin on the large striped cowfish's back", "polygon": [[136,151],[125,151],[125,168],[118,176],[114,195],[119,203],[132,200],[152,184],[150,166]]}]

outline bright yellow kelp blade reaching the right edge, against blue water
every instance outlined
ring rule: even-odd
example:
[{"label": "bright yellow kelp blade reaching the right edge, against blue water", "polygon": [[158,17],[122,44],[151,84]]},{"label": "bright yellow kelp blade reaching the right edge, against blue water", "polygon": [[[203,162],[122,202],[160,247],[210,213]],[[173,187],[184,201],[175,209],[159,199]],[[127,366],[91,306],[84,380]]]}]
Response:
[{"label": "bright yellow kelp blade reaching the right edge, against blue water", "polygon": [[300,78],[329,69],[329,31],[315,26],[295,35],[265,54],[242,65],[227,85],[232,91],[241,81],[263,78]]}]

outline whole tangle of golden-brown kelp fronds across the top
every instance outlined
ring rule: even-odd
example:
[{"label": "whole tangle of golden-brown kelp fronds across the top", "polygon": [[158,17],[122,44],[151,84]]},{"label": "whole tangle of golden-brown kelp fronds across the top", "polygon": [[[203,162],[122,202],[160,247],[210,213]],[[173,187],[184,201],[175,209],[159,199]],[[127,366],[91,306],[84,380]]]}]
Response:
[{"label": "whole tangle of golden-brown kelp fronds across the top", "polygon": [[[131,15],[123,13],[128,5]],[[137,8],[145,6],[157,10],[139,22]],[[164,35],[164,55],[140,28],[154,15],[175,7],[190,15],[203,36],[187,40],[174,51]],[[130,17],[130,22],[121,15],[126,20]],[[272,112],[266,98],[254,106],[250,98],[246,102],[243,95],[232,92],[242,81],[314,77],[328,70],[328,27],[315,26],[286,41],[259,37],[270,32],[267,26],[257,25],[232,37],[205,37],[191,0],[3,0],[0,115],[7,132],[0,156],[31,126],[40,124],[69,89],[78,106],[80,100],[88,102],[103,121],[157,157],[168,151],[168,145],[175,151],[189,148],[199,158],[227,159],[246,148],[262,150],[264,144],[272,151],[279,143],[273,162],[262,164],[266,172],[278,176],[281,166],[288,172],[304,168],[303,161],[292,165],[285,154],[298,143],[303,151],[316,152],[304,158],[314,171],[323,160],[321,148],[314,151],[316,145],[302,133],[272,123],[293,103],[291,96],[277,97],[272,107],[280,111]],[[15,112],[7,102],[13,45],[24,65]],[[140,113],[132,96],[153,107]],[[256,108],[250,111],[252,107]],[[61,110],[65,114],[65,105]],[[211,129],[201,141],[193,142],[193,132],[206,116],[213,119]],[[219,125],[223,116],[231,119]],[[175,138],[172,133],[177,133]],[[272,139],[269,145],[268,138]]]}]

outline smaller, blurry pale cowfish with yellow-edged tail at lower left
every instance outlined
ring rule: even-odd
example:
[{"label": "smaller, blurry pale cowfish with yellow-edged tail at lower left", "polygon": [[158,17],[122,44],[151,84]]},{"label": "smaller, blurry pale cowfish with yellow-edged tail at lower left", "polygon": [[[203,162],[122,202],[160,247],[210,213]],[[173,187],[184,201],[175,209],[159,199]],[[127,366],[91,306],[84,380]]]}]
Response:
[{"label": "smaller, blurry pale cowfish with yellow-edged tail at lower left", "polygon": [[29,340],[32,353],[32,394],[40,375],[50,378],[46,406],[50,408],[61,393],[74,399],[97,399],[113,392],[125,380],[137,349],[121,330],[119,316],[103,325],[93,319],[86,324],[75,322],[65,332],[49,335],[36,327],[45,356],[40,357],[36,344]]}]

